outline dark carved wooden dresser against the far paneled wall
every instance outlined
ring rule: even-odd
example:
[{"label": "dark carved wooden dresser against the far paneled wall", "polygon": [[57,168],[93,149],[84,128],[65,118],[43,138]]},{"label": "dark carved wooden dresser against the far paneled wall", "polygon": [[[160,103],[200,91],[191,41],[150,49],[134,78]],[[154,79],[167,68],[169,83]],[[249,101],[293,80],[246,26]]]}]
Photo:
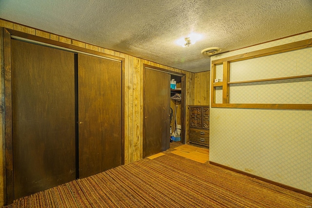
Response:
[{"label": "dark carved wooden dresser against the far paneled wall", "polygon": [[190,143],[209,147],[209,106],[193,105],[190,109]]}]

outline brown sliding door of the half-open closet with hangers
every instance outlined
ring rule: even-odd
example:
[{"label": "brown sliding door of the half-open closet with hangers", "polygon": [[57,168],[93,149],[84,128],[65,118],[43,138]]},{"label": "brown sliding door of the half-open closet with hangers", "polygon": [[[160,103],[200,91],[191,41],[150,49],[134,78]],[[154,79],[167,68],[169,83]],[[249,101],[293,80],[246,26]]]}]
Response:
[{"label": "brown sliding door of the half-open closet with hangers", "polygon": [[143,158],[169,149],[170,77],[145,68]]}]

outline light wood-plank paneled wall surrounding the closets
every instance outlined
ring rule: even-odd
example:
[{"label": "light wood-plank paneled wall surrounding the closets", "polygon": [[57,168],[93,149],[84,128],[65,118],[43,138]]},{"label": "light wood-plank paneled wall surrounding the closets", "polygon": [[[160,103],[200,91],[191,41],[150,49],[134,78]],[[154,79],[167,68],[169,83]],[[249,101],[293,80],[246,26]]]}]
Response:
[{"label": "light wood-plank paneled wall surrounding the closets", "polygon": [[[48,38],[67,44],[72,44],[81,48],[98,51],[104,54],[110,54],[117,57],[125,58],[125,163],[131,163],[136,160],[142,159],[142,138],[143,138],[143,64],[167,69],[173,72],[186,74],[186,106],[188,105],[207,105],[209,104],[209,86],[210,86],[210,73],[191,73],[179,70],[173,67],[161,65],[149,60],[141,59],[117,51],[102,48],[96,45],[88,44],[71,38],[62,37],[56,34],[51,34],[45,31],[37,30],[35,28],[27,27],[10,21],[0,19],[0,27],[5,27],[20,32],[36,35],[42,38]],[[2,41],[0,48],[2,48]],[[2,53],[2,50],[0,50]],[[5,189],[5,152],[4,152],[4,87],[3,87],[3,60],[0,56],[1,63],[1,83],[0,83],[0,206],[5,202],[4,189]],[[206,77],[207,76],[207,77]],[[201,84],[201,82],[203,84]],[[189,111],[186,109],[185,116],[185,135],[186,143],[189,142],[188,128],[189,128]],[[182,130],[183,131],[183,130]]]}]

